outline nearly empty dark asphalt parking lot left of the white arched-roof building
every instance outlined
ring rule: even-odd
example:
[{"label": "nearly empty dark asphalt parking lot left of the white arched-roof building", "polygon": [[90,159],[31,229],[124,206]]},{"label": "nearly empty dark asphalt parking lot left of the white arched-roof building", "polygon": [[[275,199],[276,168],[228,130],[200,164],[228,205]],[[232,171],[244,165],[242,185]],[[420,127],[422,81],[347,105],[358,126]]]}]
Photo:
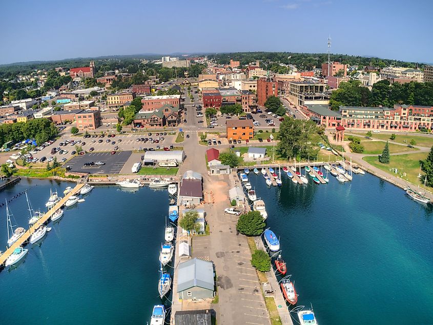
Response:
[{"label": "nearly empty dark asphalt parking lot left of the white arched-roof building", "polygon": [[[131,151],[116,152],[112,155],[110,152],[87,153],[83,156],[73,157],[68,161],[68,166],[72,172],[89,173],[89,174],[118,174],[125,165],[125,162],[131,156]],[[87,161],[102,161],[103,166],[84,166]]]}]

